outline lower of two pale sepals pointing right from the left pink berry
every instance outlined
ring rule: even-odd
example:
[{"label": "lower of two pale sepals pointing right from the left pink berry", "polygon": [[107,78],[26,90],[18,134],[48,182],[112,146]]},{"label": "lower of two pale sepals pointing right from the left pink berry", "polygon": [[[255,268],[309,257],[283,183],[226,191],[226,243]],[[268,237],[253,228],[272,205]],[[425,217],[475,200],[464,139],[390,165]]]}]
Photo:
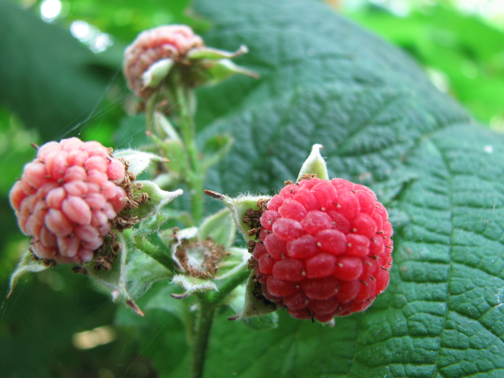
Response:
[{"label": "lower of two pale sepals pointing right from the left pink berry", "polygon": [[134,187],[134,198],[140,196],[142,193],[147,193],[150,198],[150,200],[140,205],[138,208],[127,211],[132,217],[138,217],[140,220],[157,214],[165,205],[183,193],[181,189],[177,189],[173,192],[163,191],[152,181],[138,180],[135,181],[135,183],[141,184],[142,186],[140,188]]}]

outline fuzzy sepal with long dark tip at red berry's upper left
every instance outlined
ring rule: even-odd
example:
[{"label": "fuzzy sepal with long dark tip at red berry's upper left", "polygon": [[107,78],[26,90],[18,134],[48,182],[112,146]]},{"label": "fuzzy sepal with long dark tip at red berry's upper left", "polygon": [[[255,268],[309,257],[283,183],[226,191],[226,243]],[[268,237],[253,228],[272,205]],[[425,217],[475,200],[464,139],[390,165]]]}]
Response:
[{"label": "fuzzy sepal with long dark tip at red berry's upper left", "polygon": [[243,222],[243,217],[246,216],[246,211],[248,209],[259,210],[258,201],[263,200],[265,203],[271,200],[271,196],[253,196],[253,195],[241,195],[236,198],[226,196],[217,192],[206,190],[205,194],[207,196],[221,200],[224,205],[226,205],[229,210],[231,210],[231,215],[233,216],[234,224],[238,227],[238,230],[243,235],[245,241],[256,240],[255,235],[249,235],[248,231],[251,230],[248,223]]}]

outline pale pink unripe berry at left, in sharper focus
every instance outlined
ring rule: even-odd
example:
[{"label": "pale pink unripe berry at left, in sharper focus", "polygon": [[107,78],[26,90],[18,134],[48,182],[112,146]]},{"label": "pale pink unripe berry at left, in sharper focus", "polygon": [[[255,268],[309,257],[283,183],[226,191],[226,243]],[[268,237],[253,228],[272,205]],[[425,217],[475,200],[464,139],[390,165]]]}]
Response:
[{"label": "pale pink unripe berry at left, in sharper focus", "polygon": [[84,264],[93,259],[124,208],[124,163],[98,142],[49,142],[25,165],[9,194],[21,230],[40,259]]}]

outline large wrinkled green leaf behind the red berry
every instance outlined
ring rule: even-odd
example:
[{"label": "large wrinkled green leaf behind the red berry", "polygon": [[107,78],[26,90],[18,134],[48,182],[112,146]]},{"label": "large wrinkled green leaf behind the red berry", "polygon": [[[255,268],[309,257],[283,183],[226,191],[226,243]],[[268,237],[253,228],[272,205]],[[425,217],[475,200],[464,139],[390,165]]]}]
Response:
[{"label": "large wrinkled green leaf behind the red berry", "polygon": [[501,376],[504,138],[318,2],[197,9],[213,23],[208,44],[245,43],[239,64],[262,75],[199,92],[203,138],[235,139],[210,189],[278,190],[321,143],[331,175],[394,185],[387,205],[409,219],[395,223],[391,283],[368,310],[333,329],[281,317],[256,332],[218,318],[206,377]]}]

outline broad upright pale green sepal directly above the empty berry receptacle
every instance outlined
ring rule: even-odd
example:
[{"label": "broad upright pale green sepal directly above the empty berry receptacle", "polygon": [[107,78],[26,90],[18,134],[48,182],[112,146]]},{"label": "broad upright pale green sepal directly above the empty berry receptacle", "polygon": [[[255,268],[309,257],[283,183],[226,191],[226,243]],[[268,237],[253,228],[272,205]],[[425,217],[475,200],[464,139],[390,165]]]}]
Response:
[{"label": "broad upright pale green sepal directly above the empty berry receptacle", "polygon": [[198,238],[212,240],[221,244],[224,248],[229,248],[236,235],[236,226],[229,209],[222,209],[207,217],[198,229]]}]

